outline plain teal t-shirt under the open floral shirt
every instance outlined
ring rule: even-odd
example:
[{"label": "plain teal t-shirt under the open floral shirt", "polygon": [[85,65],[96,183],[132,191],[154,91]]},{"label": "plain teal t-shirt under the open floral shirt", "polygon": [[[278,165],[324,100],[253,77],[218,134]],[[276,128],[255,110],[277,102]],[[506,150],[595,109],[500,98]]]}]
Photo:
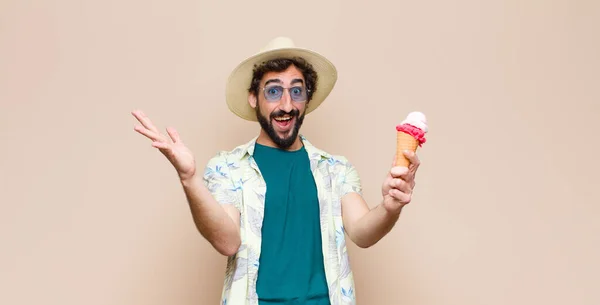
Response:
[{"label": "plain teal t-shirt under the open floral shirt", "polygon": [[256,143],[267,183],[256,290],[260,305],[330,305],[317,187],[308,153]]}]

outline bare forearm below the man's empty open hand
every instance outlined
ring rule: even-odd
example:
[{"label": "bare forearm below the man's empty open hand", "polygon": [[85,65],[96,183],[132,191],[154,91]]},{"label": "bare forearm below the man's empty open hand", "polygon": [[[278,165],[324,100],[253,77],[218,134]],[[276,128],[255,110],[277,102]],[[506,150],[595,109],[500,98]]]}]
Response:
[{"label": "bare forearm below the man's empty open hand", "polygon": [[202,177],[180,180],[200,234],[221,254],[231,256],[240,246],[239,226],[219,204]]}]

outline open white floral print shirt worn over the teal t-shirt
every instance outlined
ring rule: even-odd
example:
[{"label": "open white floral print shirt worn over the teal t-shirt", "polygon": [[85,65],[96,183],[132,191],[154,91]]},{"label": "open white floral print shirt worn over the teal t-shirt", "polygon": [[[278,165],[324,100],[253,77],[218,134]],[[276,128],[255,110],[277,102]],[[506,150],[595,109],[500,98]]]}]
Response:
[{"label": "open white floral print shirt worn over the teal t-shirt", "polygon": [[[342,222],[341,199],[361,193],[358,173],[345,157],[314,147],[300,136],[310,158],[319,196],[322,248],[331,305],[355,305],[354,279],[350,269]],[[221,305],[257,305],[256,281],[261,250],[266,184],[253,158],[256,139],[211,158],[204,183],[221,204],[240,211],[242,243],[228,257]]]}]

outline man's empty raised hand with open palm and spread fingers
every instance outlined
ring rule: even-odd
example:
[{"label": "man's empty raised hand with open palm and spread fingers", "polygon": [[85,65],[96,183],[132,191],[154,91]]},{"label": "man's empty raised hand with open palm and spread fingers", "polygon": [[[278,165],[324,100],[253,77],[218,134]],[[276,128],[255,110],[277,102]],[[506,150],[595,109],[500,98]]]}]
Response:
[{"label": "man's empty raised hand with open palm and spread fingers", "polygon": [[134,130],[152,140],[152,146],[158,148],[177,170],[180,179],[188,179],[196,173],[194,155],[185,146],[174,128],[167,128],[168,136],[160,133],[152,121],[140,110],[131,114],[142,124]]}]

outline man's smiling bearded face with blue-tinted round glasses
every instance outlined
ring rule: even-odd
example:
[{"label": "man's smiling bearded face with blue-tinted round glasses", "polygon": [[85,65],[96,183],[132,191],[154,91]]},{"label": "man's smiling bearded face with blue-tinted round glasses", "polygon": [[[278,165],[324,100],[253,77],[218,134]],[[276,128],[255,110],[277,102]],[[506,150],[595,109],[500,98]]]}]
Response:
[{"label": "man's smiling bearded face with blue-tinted round glasses", "polygon": [[308,103],[302,72],[294,65],[281,72],[267,72],[256,92],[249,95],[248,102],[262,127],[258,142],[281,149],[300,148],[298,133]]}]

